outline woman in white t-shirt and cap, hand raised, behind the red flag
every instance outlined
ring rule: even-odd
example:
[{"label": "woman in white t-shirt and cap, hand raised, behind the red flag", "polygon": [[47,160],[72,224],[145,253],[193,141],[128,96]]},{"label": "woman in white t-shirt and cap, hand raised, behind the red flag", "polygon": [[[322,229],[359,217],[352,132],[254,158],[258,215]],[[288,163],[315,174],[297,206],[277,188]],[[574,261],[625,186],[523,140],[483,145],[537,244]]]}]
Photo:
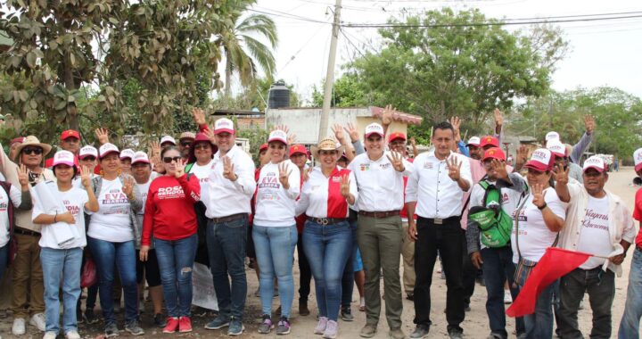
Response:
[{"label": "woman in white t-shirt and cap, hand raised, behind the red flag", "polygon": [[[550,151],[540,148],[532,153],[531,160],[524,165],[528,169],[526,179],[531,186],[531,194],[518,203],[511,236],[513,261],[518,268],[520,260],[527,266],[537,263],[547,248],[556,244],[557,234],[564,227],[564,204],[552,187],[553,161]],[[523,286],[524,282],[525,277],[515,277],[516,284]],[[524,316],[527,338],[553,336],[553,285],[548,285],[539,294],[535,312]]]}]

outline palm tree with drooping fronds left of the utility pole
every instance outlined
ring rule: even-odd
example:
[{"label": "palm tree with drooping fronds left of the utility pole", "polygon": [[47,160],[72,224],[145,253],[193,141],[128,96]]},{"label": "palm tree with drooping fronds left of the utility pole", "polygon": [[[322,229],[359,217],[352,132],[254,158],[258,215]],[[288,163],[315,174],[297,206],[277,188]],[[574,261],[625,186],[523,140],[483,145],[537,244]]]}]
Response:
[{"label": "palm tree with drooping fronds left of the utility pole", "polygon": [[[241,0],[238,3],[247,8],[252,0]],[[237,12],[232,20],[234,27],[222,32],[219,44],[226,56],[225,95],[231,95],[232,73],[237,72],[243,86],[249,86],[256,78],[257,65],[263,69],[268,78],[274,73],[276,62],[272,49],[276,48],[276,24],[263,14],[251,14],[242,18],[243,11]],[[268,39],[270,47],[256,37]]]}]

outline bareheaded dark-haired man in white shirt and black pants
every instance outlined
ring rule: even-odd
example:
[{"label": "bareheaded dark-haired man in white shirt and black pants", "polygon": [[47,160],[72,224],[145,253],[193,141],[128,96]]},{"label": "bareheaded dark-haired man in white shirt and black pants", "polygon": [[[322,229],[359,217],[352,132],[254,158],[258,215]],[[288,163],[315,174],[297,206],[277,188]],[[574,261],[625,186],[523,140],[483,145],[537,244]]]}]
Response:
[{"label": "bareheaded dark-haired man in white shirt and black pants", "polygon": [[[451,338],[461,338],[464,330],[463,252],[465,233],[461,228],[462,198],[473,186],[470,162],[453,153],[455,131],[447,122],[435,125],[432,144],[435,150],[416,157],[415,170],[408,178],[406,209],[416,213],[408,219],[408,236],[415,244],[415,324],[411,338],[428,336],[430,326],[432,269],[441,255],[448,286],[446,319]],[[416,202],[416,205],[415,205]]]}]

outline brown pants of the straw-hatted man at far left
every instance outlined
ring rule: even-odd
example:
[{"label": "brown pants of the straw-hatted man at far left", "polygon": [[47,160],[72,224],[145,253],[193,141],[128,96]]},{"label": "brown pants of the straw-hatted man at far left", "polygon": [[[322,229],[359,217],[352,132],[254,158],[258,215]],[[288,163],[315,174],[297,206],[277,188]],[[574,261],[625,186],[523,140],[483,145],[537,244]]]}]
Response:
[{"label": "brown pants of the straw-hatted man at far left", "polygon": [[[18,252],[13,261],[13,318],[27,318],[45,311],[42,266],[40,265],[39,236],[13,234]],[[29,295],[29,302],[27,296]],[[29,304],[29,309],[26,306]]]}]

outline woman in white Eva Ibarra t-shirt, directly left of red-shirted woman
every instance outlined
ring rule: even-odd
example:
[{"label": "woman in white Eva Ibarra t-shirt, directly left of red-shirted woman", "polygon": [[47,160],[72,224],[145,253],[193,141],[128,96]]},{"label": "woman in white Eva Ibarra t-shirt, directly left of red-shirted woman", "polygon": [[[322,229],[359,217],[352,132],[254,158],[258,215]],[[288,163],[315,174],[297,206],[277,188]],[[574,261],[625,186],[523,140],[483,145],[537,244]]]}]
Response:
[{"label": "woman in white Eva Ibarra t-shirt, directly left of red-shirted woman", "polygon": [[87,243],[96,262],[105,336],[118,335],[113,311],[114,268],[118,269],[125,295],[125,330],[143,335],[138,325],[138,286],[136,285],[136,212],[144,202],[129,175],[121,174],[119,149],[110,143],[99,149],[101,177],[92,180],[99,210],[91,214]]}]

